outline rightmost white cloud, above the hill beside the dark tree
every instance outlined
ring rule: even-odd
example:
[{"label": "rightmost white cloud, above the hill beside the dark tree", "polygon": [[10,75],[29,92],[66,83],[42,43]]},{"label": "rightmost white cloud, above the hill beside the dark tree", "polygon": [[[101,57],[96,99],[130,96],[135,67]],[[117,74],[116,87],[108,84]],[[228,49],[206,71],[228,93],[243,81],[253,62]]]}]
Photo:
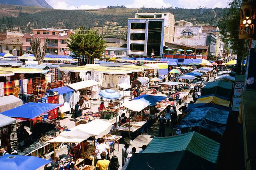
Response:
[{"label": "rightmost white cloud, above the hill beside the dark tree", "polygon": [[184,8],[225,8],[230,0],[178,0],[178,4]]}]

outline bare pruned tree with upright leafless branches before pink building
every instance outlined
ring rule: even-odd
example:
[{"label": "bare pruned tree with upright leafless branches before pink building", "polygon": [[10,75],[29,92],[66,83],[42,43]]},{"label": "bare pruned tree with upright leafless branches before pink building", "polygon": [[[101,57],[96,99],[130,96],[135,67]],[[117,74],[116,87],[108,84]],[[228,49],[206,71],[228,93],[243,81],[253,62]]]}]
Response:
[{"label": "bare pruned tree with upright leafless branches before pink building", "polygon": [[36,57],[38,65],[42,65],[42,63],[44,61],[44,56],[45,56],[46,49],[47,49],[47,43],[46,43],[47,41],[48,41],[48,39],[44,38],[43,49],[41,50],[40,38],[31,36],[31,41],[30,41],[31,50],[33,51],[33,54]]}]

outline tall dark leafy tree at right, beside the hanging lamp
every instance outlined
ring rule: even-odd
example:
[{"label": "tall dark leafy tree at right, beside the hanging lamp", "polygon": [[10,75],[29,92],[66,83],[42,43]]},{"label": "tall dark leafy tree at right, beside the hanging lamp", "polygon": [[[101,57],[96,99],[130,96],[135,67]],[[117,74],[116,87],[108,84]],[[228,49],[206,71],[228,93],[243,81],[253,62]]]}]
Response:
[{"label": "tall dark leafy tree at right, beside the hanging lamp", "polygon": [[225,43],[230,43],[230,48],[237,55],[236,74],[241,74],[242,60],[247,55],[248,41],[238,39],[240,24],[240,7],[243,0],[234,0],[228,5],[230,9],[225,12],[224,17],[218,22],[220,34]]}]

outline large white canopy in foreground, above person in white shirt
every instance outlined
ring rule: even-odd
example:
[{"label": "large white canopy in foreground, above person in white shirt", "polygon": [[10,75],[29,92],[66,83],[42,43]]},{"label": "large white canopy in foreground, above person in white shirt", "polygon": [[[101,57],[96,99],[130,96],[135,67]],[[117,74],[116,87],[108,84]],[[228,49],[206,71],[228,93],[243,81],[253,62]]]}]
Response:
[{"label": "large white canopy in foreground, above person in white shirt", "polygon": [[51,142],[68,142],[68,143],[80,143],[91,136],[98,136],[100,133],[106,131],[112,123],[95,119],[89,123],[78,125],[70,129],[70,131],[64,131],[60,133],[60,136],[48,141]]}]

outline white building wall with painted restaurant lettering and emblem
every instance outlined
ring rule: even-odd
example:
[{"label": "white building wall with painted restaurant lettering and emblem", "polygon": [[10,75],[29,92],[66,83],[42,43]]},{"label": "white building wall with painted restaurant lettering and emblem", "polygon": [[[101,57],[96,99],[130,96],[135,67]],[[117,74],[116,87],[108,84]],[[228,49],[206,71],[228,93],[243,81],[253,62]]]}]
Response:
[{"label": "white building wall with painted restaurant lettering and emblem", "polygon": [[206,45],[206,33],[201,26],[175,26],[174,43],[184,45]]}]

